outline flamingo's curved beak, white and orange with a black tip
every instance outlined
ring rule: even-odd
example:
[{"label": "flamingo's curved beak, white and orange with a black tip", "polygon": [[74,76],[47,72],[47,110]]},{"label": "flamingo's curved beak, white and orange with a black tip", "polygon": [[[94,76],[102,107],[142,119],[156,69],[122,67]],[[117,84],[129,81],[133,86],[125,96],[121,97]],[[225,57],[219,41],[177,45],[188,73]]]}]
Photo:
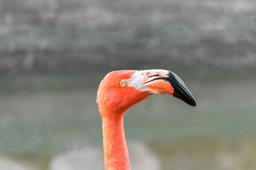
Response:
[{"label": "flamingo's curved beak, white and orange with a black tip", "polygon": [[[141,71],[138,71],[141,72]],[[145,70],[141,89],[152,94],[169,94],[195,106],[195,98],[185,83],[173,72],[167,70]]]}]

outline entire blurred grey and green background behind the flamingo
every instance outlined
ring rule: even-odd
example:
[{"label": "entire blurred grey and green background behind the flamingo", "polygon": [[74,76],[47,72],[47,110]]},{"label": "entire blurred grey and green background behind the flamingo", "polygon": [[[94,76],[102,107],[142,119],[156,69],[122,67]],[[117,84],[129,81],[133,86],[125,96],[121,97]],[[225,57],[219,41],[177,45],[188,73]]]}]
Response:
[{"label": "entire blurred grey and green background behind the flamingo", "polygon": [[103,170],[112,70],[175,72],[124,129],[132,170],[256,170],[255,0],[0,0],[0,167]]}]

